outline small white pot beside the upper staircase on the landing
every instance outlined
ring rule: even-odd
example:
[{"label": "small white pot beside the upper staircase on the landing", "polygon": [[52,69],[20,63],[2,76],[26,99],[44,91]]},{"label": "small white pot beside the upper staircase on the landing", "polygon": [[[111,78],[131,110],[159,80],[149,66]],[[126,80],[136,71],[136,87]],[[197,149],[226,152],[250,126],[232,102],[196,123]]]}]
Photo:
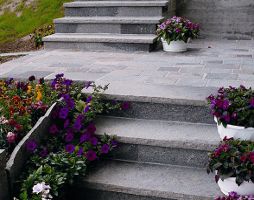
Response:
[{"label": "small white pot beside the upper staircase on the landing", "polygon": [[187,51],[187,43],[182,40],[171,41],[170,44],[168,44],[164,39],[161,39],[161,42],[164,51],[175,53]]}]

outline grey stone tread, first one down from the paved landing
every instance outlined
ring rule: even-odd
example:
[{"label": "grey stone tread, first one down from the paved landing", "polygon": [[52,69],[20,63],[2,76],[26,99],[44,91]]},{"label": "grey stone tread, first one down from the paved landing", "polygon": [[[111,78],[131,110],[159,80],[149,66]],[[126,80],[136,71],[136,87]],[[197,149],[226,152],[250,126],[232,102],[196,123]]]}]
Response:
[{"label": "grey stone tread, first one down from the paved landing", "polygon": [[96,124],[97,134],[116,135],[123,143],[212,150],[220,141],[215,124],[120,117],[99,117]]}]

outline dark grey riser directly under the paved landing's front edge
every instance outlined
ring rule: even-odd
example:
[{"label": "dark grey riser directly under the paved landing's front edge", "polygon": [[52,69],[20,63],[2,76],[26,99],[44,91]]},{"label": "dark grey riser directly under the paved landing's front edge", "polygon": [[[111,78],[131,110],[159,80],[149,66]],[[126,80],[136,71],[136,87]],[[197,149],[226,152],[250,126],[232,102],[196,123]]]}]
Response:
[{"label": "dark grey riser directly under the paved landing's front edge", "polygon": [[214,124],[213,118],[206,106],[130,102],[128,110],[113,112],[111,115],[137,119]]}]

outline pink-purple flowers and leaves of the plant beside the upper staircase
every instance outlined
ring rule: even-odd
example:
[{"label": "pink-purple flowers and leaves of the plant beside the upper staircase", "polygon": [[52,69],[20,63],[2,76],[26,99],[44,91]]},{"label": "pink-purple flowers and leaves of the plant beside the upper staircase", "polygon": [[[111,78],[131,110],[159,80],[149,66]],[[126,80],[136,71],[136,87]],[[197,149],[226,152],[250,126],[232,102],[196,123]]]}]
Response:
[{"label": "pink-purple flowers and leaves of the plant beside the upper staircase", "polygon": [[199,35],[199,25],[192,23],[183,17],[172,17],[165,19],[158,25],[157,35],[159,39],[164,39],[169,44],[171,41],[184,41],[197,38]]}]

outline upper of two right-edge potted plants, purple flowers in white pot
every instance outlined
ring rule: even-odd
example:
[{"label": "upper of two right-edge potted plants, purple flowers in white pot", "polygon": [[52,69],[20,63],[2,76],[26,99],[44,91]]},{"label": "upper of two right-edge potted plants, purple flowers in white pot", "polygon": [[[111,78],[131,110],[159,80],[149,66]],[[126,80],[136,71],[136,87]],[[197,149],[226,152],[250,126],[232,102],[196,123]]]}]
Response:
[{"label": "upper of two right-edge potted plants, purple flowers in white pot", "polygon": [[254,140],[254,91],[251,88],[220,88],[208,98],[220,138]]}]

